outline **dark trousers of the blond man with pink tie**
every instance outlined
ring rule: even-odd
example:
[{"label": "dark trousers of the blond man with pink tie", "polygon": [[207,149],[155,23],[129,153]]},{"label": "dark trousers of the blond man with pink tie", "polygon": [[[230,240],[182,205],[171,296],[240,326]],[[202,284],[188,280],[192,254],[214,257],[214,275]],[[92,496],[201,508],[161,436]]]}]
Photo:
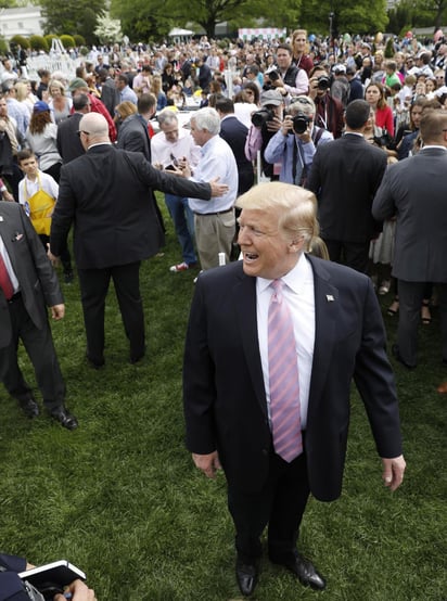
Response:
[{"label": "dark trousers of the blond man with pink tie", "polygon": [[293,561],[308,497],[305,452],[286,463],[271,451],[269,476],[259,493],[246,494],[229,485],[228,508],[235,526],[238,557],[244,563],[260,557],[259,538],[268,524],[270,559]]}]

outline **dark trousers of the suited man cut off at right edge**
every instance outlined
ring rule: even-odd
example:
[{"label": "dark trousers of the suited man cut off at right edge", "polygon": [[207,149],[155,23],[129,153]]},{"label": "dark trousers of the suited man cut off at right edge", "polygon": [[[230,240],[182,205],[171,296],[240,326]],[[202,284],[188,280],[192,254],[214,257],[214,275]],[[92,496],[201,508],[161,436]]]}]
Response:
[{"label": "dark trousers of the suited man cut off at right edge", "polygon": [[[418,362],[418,325],[421,321],[421,305],[426,294],[425,289],[425,282],[398,280],[399,324],[397,328],[397,345],[400,357],[409,366],[416,366]],[[447,360],[447,284],[436,284],[436,289],[439,300],[443,359]]]}]

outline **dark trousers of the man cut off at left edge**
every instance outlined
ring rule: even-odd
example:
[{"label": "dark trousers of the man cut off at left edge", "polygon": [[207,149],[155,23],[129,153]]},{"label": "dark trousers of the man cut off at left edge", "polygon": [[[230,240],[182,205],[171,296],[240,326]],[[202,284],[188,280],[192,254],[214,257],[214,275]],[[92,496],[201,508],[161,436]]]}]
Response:
[{"label": "dark trousers of the man cut off at left edge", "polygon": [[33,396],[17,363],[18,340],[22,338],[31,360],[36,380],[47,409],[61,406],[65,399],[65,384],[59,367],[51,329],[48,323],[39,330],[30,319],[22,297],[9,303],[12,327],[11,344],[0,348],[0,380],[8,392],[18,400]]}]

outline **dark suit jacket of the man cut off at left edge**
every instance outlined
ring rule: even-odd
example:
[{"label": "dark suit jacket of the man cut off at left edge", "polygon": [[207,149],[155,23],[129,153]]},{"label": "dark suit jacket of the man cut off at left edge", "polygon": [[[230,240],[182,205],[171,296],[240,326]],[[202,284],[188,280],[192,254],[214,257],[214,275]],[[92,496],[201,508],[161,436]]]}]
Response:
[{"label": "dark suit jacket of the man cut off at left edge", "polygon": [[[0,202],[0,235],[21,285],[26,310],[36,328],[48,325],[46,305],[64,302],[58,276],[49,261],[31,222],[16,203]],[[0,346],[11,340],[11,319],[7,299],[0,291]]]}]

